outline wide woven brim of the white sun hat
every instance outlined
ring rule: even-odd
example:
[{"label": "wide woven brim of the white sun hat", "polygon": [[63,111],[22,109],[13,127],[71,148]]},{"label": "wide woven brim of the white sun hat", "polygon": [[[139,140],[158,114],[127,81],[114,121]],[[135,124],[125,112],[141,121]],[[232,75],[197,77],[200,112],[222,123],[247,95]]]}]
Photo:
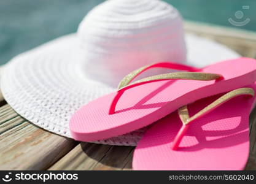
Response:
[{"label": "wide woven brim of the white sun hat", "polygon": [[[238,53],[212,40],[186,35],[187,64],[203,67]],[[69,119],[79,107],[115,88],[88,79],[79,67],[76,34],[52,40],[13,58],[4,67],[1,90],[10,106],[22,117],[48,131],[71,137]],[[110,145],[137,144],[144,129],[99,140]]]}]

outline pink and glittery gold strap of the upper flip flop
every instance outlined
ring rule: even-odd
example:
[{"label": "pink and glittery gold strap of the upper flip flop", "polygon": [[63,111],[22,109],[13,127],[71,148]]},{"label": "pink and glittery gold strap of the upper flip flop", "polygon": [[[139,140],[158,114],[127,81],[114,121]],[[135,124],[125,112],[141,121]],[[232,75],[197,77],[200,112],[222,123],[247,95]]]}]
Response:
[{"label": "pink and glittery gold strap of the upper flip flop", "polygon": [[[142,72],[147,71],[148,69],[155,68],[155,67],[164,67],[168,69],[177,69],[181,71],[188,71],[188,72],[172,72],[168,74],[160,74],[160,75],[153,75],[150,77],[146,77],[144,79],[138,80],[133,82],[139,74]],[[201,69],[196,67],[186,66],[184,64],[177,64],[177,63],[153,63],[147,66],[143,66],[135,71],[131,72],[130,74],[126,75],[118,85],[117,94],[115,95],[114,99],[112,100],[111,106],[109,108],[109,115],[115,113],[115,107],[117,105],[118,100],[121,98],[122,94],[135,86],[143,85],[145,83],[156,82],[160,80],[177,80],[177,79],[184,79],[184,80],[216,80],[222,79],[222,75],[220,74],[208,74],[208,73],[201,73],[199,72]]]}]

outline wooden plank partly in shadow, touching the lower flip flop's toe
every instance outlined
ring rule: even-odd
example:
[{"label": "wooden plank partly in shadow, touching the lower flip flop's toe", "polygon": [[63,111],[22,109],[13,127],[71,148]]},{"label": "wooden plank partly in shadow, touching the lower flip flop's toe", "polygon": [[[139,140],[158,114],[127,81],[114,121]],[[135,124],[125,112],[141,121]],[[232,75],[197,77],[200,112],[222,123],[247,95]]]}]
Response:
[{"label": "wooden plank partly in shadow, touching the lower flip flop's toe", "polygon": [[130,169],[134,147],[93,143],[77,145],[49,170],[121,170]]}]

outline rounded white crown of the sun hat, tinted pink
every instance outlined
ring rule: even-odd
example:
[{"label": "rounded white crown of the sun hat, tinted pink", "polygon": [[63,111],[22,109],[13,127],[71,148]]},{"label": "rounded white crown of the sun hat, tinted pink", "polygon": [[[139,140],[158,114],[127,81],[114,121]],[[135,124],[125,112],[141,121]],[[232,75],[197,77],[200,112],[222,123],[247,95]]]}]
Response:
[{"label": "rounded white crown of the sun hat, tinted pink", "polygon": [[163,1],[103,2],[82,20],[78,37],[87,77],[112,86],[145,64],[186,60],[182,18]]}]

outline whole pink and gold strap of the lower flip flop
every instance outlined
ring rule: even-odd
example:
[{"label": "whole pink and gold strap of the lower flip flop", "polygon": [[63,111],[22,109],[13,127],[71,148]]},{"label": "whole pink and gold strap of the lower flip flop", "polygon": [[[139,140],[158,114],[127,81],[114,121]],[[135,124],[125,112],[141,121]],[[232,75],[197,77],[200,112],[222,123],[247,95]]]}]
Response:
[{"label": "whole pink and gold strap of the lower flip flop", "polygon": [[189,117],[187,105],[184,105],[183,107],[180,107],[178,109],[178,113],[179,113],[179,117],[180,117],[180,120],[182,121],[183,125],[180,128],[179,132],[177,133],[171,148],[173,150],[177,150],[177,148],[179,147],[179,144],[180,144],[182,138],[185,135],[185,132],[188,129],[188,126],[190,125],[190,123],[192,123],[192,121],[194,121],[197,118],[200,118],[200,117],[206,115],[207,113],[209,113],[212,110],[216,109],[217,107],[219,107],[223,103],[229,101],[230,99],[233,99],[236,96],[241,96],[241,95],[254,96],[254,90],[252,88],[239,88],[239,89],[230,91],[229,93],[224,94],[223,96],[221,96],[220,98],[218,98],[217,100],[215,100],[214,102],[209,104],[204,109],[200,110],[200,112],[196,113],[192,117]]}]

